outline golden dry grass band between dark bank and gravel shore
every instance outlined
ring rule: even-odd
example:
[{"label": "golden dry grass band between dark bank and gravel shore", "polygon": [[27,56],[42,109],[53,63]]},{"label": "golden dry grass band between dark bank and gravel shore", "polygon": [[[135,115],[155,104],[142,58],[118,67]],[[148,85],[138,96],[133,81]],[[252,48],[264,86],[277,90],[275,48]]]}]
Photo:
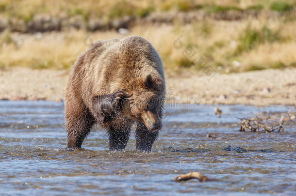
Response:
[{"label": "golden dry grass band between dark bank and gravel shore", "polygon": [[[240,21],[211,20],[182,25],[136,26],[126,35],[115,31],[85,32],[72,30],[36,34],[4,31],[0,34],[0,67],[68,68],[87,48],[90,39],[109,39],[140,35],[159,52],[164,67],[193,70],[195,58],[187,59],[191,47],[207,65],[221,72],[242,72],[296,66],[296,21],[284,16],[259,15]],[[181,36],[181,37],[180,37]],[[182,47],[174,47],[181,38]],[[194,56],[194,57],[196,57]],[[187,56],[188,57],[188,56]]]}]

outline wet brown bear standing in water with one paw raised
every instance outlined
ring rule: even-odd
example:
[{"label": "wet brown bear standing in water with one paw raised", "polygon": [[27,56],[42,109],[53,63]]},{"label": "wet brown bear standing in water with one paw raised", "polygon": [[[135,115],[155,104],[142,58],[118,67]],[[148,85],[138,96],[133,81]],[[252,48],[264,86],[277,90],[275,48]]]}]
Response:
[{"label": "wet brown bear standing in water with one paw raised", "polygon": [[78,57],[67,80],[67,147],[81,148],[99,123],[107,129],[110,150],[123,150],[136,123],[136,149],[151,151],[162,128],[164,96],[162,61],[147,40],[97,41]]}]

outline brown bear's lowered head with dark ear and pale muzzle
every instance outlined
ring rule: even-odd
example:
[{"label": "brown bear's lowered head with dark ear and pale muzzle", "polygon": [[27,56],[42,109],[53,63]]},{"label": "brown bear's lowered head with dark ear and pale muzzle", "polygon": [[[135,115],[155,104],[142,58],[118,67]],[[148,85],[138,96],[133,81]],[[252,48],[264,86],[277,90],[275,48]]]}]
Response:
[{"label": "brown bear's lowered head with dark ear and pale muzzle", "polygon": [[160,76],[146,75],[128,92],[122,112],[127,119],[141,121],[149,131],[162,128],[164,81]]}]

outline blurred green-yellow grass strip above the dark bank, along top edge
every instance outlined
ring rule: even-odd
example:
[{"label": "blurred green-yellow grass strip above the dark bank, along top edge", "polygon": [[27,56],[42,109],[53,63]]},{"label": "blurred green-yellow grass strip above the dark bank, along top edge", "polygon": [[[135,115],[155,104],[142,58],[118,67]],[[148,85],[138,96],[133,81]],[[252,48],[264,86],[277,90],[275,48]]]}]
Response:
[{"label": "blurred green-yellow grass strip above the dark bank, along top edge", "polygon": [[55,0],[54,3],[48,0],[1,0],[0,16],[5,18],[16,17],[23,21],[30,21],[34,15],[49,14],[53,16],[63,15],[73,16],[82,15],[87,21],[92,17],[112,19],[125,15],[145,17],[152,12],[163,11],[182,11],[202,9],[209,13],[228,12],[230,10],[275,10],[288,12],[296,5],[295,0],[275,1],[264,0],[248,1],[248,6],[242,6],[237,0],[229,0],[228,3],[209,0]]}]

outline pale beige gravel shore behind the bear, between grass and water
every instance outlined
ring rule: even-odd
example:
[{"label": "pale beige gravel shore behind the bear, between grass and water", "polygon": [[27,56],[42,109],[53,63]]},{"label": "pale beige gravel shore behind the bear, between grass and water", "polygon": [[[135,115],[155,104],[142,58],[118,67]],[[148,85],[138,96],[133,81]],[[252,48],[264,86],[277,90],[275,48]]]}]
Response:
[{"label": "pale beige gravel shore behind the bear, between grass and water", "polygon": [[[50,100],[64,97],[68,71],[0,70],[1,100]],[[296,106],[296,69],[261,70],[239,74],[166,76],[168,103]]]}]

